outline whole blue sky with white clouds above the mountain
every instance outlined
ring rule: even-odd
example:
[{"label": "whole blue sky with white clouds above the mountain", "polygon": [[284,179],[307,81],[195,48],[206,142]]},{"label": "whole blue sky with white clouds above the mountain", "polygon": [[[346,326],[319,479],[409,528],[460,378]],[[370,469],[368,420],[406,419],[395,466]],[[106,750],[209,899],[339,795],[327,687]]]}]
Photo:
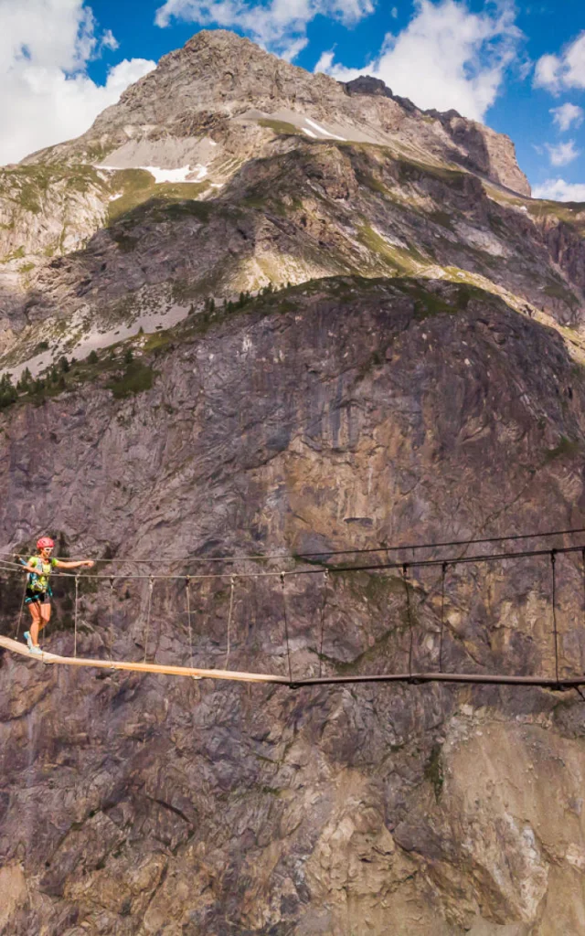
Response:
[{"label": "whole blue sky with white clouds above the mountain", "polygon": [[[37,30],[41,5],[52,7],[53,34],[46,18]],[[19,15],[23,7],[27,16]],[[14,126],[9,157],[37,148],[36,133],[46,145],[58,141],[51,134],[82,132],[128,80],[198,29],[218,25],[309,70],[340,79],[373,73],[421,107],[483,119],[514,140],[538,192],[585,201],[582,0],[0,0],[0,62],[10,65],[0,66],[0,120]],[[7,92],[11,104],[3,105]],[[57,100],[64,95],[66,107]]]}]

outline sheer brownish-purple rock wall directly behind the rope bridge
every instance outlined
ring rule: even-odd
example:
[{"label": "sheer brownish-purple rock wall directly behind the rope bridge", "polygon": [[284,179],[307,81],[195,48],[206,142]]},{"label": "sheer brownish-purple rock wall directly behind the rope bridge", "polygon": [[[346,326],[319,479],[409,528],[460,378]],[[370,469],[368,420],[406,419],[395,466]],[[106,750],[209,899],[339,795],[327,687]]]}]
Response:
[{"label": "sheer brownish-purple rock wall directly behind the rope bridge", "polygon": [[[139,395],[112,399],[97,373],[7,411],[3,538],[38,516],[61,548],[128,557],[106,574],[153,553],[159,572],[225,572],[191,586],[193,658],[222,666],[229,575],[256,567],[195,554],[511,533],[542,526],[544,504],[548,526],[582,526],[582,368],[501,300],[429,286],[296,287],[145,349]],[[578,559],[558,558],[562,675],[582,669]],[[285,581],[293,674],[403,669],[400,571],[324,584],[323,567]],[[436,668],[440,569],[409,580],[415,666]],[[109,580],[82,584],[79,652],[187,662],[184,580],[156,583],[148,630],[147,591],[117,583],[110,618]],[[57,592],[51,650],[71,652]],[[548,557],[453,567],[445,600],[446,669],[554,673]],[[237,578],[231,627],[229,665],[287,671],[278,576]],[[1,672],[5,932],[579,931],[577,695],[185,686],[7,654]]]}]

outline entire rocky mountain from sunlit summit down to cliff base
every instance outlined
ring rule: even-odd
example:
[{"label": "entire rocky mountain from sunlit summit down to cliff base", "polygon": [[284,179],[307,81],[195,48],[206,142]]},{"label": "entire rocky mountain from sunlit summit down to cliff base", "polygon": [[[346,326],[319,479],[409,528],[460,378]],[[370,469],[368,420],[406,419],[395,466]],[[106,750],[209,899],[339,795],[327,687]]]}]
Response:
[{"label": "entire rocky mountain from sunlit summit down to cliff base", "polygon": [[285,680],[2,651],[0,933],[584,931],[584,229],[223,31],[0,169],[0,633]]}]

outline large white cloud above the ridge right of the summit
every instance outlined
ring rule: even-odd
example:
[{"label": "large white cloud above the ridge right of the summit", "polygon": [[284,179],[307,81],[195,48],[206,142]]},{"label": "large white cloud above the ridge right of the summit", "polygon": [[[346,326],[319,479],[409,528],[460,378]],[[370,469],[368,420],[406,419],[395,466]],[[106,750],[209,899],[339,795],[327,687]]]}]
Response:
[{"label": "large white cloud above the ridge right of the summit", "polygon": [[420,108],[454,108],[483,120],[506,69],[519,65],[521,39],[507,2],[473,13],[462,0],[417,0],[414,19],[398,36],[388,34],[369,65],[347,69],[322,55],[318,67],[339,80],[370,74]]}]

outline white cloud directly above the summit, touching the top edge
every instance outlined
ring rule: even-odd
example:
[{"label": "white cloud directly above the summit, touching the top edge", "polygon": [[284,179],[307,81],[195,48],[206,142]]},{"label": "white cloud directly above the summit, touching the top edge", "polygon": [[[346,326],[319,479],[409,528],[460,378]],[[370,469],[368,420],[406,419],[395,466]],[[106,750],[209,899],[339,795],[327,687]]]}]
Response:
[{"label": "white cloud directly above the summit, touching the top edge", "polygon": [[201,26],[236,27],[287,61],[307,44],[307,25],[327,16],[352,25],[373,12],[373,0],[166,0],[156,11],[158,26],[174,18]]}]

